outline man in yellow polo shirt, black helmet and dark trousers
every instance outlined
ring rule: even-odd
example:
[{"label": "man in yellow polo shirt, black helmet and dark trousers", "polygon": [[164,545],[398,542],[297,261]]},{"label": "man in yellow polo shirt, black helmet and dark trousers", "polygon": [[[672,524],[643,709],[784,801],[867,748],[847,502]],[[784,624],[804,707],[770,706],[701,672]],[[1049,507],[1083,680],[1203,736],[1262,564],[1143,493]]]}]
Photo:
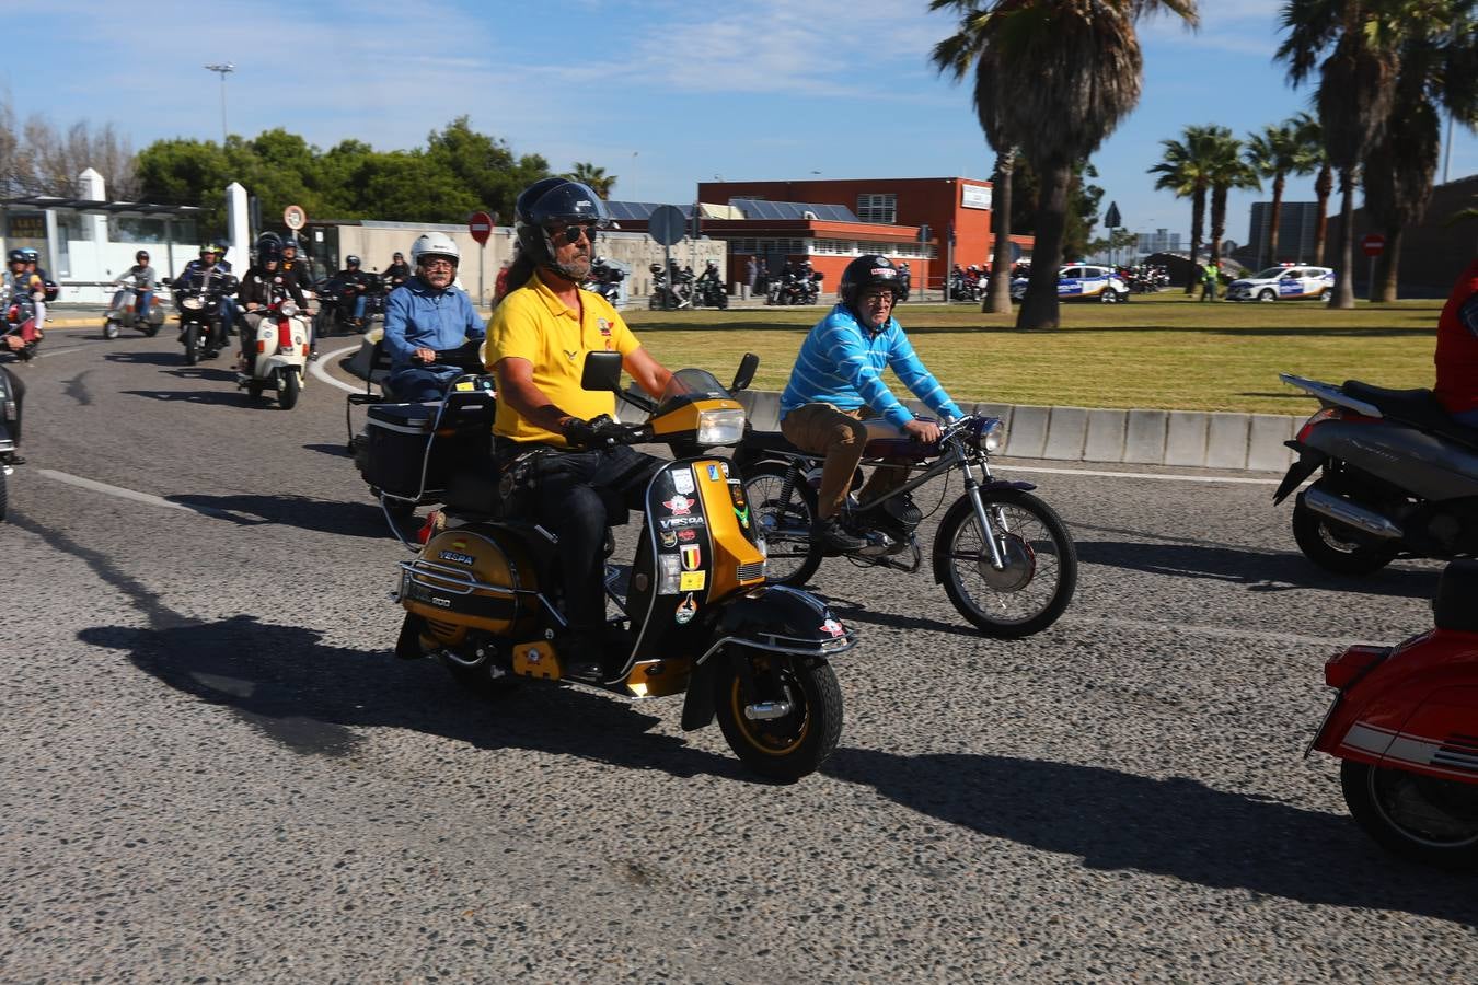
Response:
[{"label": "man in yellow polo shirt, black helmet and dark trousers", "polygon": [[618,351],[637,384],[659,397],[672,374],[641,347],[616,309],[581,289],[596,253],[596,230],[610,223],[585,185],[548,177],[523,189],[514,207],[520,253],[508,294],[488,328],[488,368],[498,380],[498,465],[517,470],[534,520],[559,536],[569,636],[566,673],[603,679],[606,592],[600,548],[612,509],[640,509],[661,461],[616,445],[587,447],[612,393],[582,390],[585,353]]}]

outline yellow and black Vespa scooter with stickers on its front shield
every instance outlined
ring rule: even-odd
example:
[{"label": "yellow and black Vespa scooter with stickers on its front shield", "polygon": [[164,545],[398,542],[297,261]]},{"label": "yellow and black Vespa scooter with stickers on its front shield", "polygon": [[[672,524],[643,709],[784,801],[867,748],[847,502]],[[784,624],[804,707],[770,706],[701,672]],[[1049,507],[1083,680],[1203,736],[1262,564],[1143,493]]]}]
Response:
[{"label": "yellow and black Vespa scooter with stickers on its front shield", "polygon": [[[735,390],[757,362],[745,359]],[[615,390],[619,375],[619,353],[594,351],[582,385]],[[492,385],[492,377],[458,377],[443,412],[455,421],[477,416],[485,442]],[[396,656],[435,657],[480,693],[510,681],[573,681],[634,700],[684,694],[684,731],[717,718],[754,772],[779,781],[811,774],[841,735],[842,699],[829,662],[854,645],[854,634],[814,595],[764,583],[742,480],[726,458],[704,452],[743,431],[743,408],[730,391],[705,371],[681,369],[659,400],[634,402],[649,411],[644,424],[597,418],[593,440],[662,442],[677,458],[647,484],[631,563],[606,564],[607,611],[616,611],[599,676],[569,676],[590,654],[569,650],[557,539],[501,508],[507,496],[537,495],[522,489],[516,468],[497,481],[469,471],[448,483],[446,505],[429,524],[440,529],[401,564],[395,597],[406,614]],[[429,431],[427,459],[435,443]],[[607,517],[628,518],[624,505]],[[607,536],[607,558],[613,545]]]}]

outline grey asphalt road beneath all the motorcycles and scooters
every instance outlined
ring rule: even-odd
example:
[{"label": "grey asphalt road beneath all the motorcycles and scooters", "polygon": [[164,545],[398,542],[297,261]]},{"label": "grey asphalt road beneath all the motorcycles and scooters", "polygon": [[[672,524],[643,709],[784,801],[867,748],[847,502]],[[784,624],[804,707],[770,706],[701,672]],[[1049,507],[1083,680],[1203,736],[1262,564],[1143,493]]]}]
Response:
[{"label": "grey asphalt road beneath all the motorcycles and scooters", "polygon": [[396,660],[343,391],[251,406],[168,329],[19,372],[6,982],[1478,981],[1472,877],[1301,758],[1323,660],[1429,626],[1437,567],[1318,573],[1271,476],[1005,462],[1083,561],[1018,642],[828,561],[845,728],[777,787],[678,700]]}]

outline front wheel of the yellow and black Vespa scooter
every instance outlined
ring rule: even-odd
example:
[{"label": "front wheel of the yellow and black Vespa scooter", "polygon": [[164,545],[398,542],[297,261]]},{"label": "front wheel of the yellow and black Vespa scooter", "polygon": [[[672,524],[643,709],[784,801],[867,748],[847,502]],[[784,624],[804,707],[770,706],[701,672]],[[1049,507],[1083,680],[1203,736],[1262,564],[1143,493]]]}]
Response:
[{"label": "front wheel of the yellow and black Vespa scooter", "polygon": [[841,740],[841,685],[825,660],[730,650],[714,687],[729,747],[761,777],[795,783],[816,772]]}]

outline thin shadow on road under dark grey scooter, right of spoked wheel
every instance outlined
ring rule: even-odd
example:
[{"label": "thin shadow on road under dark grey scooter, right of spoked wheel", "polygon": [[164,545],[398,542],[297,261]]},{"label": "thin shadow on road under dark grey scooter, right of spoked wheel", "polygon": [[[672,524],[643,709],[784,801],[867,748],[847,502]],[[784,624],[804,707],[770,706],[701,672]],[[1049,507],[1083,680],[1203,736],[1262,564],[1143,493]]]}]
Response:
[{"label": "thin shadow on road under dark grey scooter, right of spoked wheel", "polygon": [[1212,543],[1079,540],[1077,560],[1147,574],[1210,579],[1246,585],[1253,592],[1321,589],[1398,598],[1431,598],[1437,570],[1386,567],[1366,577],[1342,577],[1302,554],[1252,551]]}]

